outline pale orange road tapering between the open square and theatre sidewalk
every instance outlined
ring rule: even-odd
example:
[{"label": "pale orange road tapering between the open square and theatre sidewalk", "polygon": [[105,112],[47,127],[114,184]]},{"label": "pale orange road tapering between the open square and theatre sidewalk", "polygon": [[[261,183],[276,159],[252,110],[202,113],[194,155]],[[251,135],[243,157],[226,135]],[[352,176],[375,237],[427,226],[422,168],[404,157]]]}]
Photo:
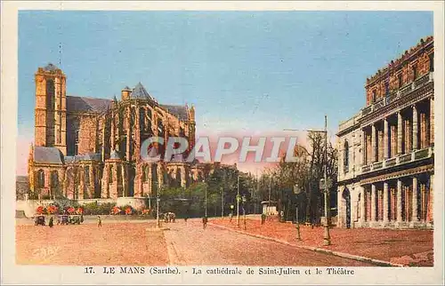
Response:
[{"label": "pale orange road tapering between the open square and theatre sidewalk", "polygon": [[203,229],[198,219],[165,224],[170,264],[237,266],[371,266],[348,258],[302,250],[217,226]]}]

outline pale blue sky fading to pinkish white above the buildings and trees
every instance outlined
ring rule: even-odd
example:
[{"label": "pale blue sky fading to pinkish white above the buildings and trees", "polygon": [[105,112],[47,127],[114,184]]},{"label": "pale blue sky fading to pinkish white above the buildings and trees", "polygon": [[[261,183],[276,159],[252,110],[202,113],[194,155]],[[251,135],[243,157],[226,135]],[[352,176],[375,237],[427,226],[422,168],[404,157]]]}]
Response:
[{"label": "pale blue sky fading to pinkish white above the buildings and trees", "polygon": [[142,82],[160,103],[193,104],[198,134],[322,128],[327,114],[334,135],[364,106],[367,76],[430,35],[433,12],[20,11],[17,174],[48,62],[61,60],[68,95]]}]

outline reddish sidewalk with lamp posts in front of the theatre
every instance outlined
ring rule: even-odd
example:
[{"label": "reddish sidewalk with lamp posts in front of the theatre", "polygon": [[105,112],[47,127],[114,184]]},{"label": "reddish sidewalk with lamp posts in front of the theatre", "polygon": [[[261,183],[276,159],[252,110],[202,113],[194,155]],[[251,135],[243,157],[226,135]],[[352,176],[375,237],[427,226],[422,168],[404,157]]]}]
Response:
[{"label": "reddish sidewalk with lamp posts in front of the theatre", "polygon": [[342,252],[353,256],[372,258],[403,266],[433,266],[433,231],[392,230],[376,228],[330,228],[331,245],[323,245],[323,227],[300,225],[301,241],[296,240],[295,225],[247,219],[237,226],[236,218],[214,218],[210,223],[229,227],[247,234],[263,235],[306,248]]}]

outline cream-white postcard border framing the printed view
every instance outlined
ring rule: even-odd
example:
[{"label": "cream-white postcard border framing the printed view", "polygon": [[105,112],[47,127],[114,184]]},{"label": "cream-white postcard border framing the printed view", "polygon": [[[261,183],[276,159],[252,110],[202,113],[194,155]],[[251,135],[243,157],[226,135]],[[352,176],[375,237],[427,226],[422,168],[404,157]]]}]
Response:
[{"label": "cream-white postcard border framing the printed view", "polygon": [[[1,34],[1,186],[2,186],[2,283],[87,283],[87,284],[369,284],[443,282],[443,3],[441,1],[362,1],[362,2],[2,2]],[[354,275],[129,275],[84,274],[85,266],[15,265],[15,169],[18,111],[18,11],[19,10],[399,10],[434,12],[435,92],[435,176],[434,176],[434,266],[433,267],[348,267]],[[210,266],[201,266],[201,269]],[[99,268],[96,266],[95,268]],[[180,267],[191,272],[191,266]],[[247,266],[240,266],[247,270]],[[252,267],[257,268],[257,267]],[[295,267],[306,269],[315,267]],[[326,267],[319,267],[326,268]]]}]

